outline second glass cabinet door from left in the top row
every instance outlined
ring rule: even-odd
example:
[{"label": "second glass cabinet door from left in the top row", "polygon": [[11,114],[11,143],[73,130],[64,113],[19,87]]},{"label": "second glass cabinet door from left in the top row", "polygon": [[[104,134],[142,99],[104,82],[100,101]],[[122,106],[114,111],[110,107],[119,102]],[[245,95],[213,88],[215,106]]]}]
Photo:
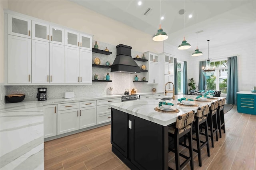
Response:
[{"label": "second glass cabinet door from left in the top row", "polygon": [[32,21],[32,39],[49,42],[49,25]]}]

